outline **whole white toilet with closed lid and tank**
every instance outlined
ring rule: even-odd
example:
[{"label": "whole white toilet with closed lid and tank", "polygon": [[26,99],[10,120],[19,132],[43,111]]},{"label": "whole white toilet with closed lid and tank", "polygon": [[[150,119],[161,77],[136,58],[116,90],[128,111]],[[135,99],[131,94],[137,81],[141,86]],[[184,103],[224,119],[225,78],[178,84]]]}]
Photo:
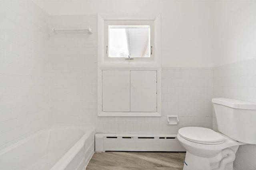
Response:
[{"label": "whole white toilet with closed lid and tank", "polygon": [[239,145],[256,144],[256,103],[214,98],[218,130],[183,127],[177,138],[187,150],[183,170],[233,170]]}]

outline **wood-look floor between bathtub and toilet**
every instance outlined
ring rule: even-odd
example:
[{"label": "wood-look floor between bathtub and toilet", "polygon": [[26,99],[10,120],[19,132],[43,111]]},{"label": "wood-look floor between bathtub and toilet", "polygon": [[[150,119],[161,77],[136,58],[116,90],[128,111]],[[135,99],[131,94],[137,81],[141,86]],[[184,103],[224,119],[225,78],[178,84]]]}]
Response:
[{"label": "wood-look floor between bathtub and toilet", "polygon": [[86,170],[182,170],[186,152],[94,153]]}]

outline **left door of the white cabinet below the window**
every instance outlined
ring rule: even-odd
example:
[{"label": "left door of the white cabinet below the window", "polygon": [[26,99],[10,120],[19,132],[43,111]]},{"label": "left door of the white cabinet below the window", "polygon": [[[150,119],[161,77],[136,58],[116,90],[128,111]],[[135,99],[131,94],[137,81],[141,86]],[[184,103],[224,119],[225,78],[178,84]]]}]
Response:
[{"label": "left door of the white cabinet below the window", "polygon": [[130,71],[102,71],[102,111],[130,111]]}]

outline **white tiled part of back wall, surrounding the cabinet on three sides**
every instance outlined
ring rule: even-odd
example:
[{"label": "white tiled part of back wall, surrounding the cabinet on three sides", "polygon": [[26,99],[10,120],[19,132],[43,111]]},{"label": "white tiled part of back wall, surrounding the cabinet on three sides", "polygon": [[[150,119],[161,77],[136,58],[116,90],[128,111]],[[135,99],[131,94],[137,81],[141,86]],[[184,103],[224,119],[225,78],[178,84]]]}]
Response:
[{"label": "white tiled part of back wall, surrounding the cabinet on three sides", "polygon": [[[105,133],[177,133],[212,128],[212,68],[162,68],[162,117],[97,116],[97,16],[51,16],[51,27],[92,28],[92,35],[50,36],[51,122],[90,125]],[[166,125],[179,115],[179,125]]]}]

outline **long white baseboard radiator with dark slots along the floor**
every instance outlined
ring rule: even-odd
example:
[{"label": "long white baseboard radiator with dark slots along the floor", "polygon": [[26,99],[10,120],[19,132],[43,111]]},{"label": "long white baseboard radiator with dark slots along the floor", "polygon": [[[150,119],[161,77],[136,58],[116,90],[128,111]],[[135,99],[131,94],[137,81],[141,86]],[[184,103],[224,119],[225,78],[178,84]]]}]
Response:
[{"label": "long white baseboard radiator with dark slots along the floor", "polygon": [[177,134],[95,134],[95,152],[164,151],[184,152]]}]

